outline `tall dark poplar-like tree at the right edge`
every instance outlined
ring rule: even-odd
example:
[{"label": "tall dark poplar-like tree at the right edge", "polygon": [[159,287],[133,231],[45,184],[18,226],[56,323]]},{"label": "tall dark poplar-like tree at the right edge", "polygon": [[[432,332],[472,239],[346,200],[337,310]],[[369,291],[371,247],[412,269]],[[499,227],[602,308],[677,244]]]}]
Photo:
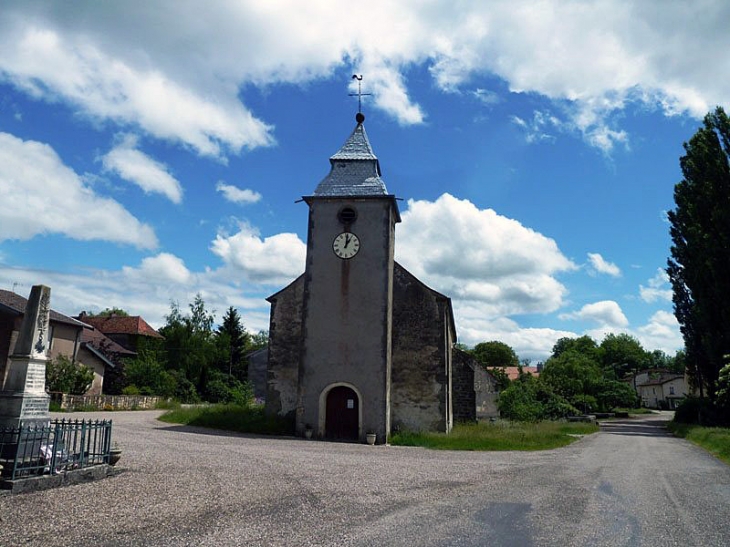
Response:
[{"label": "tall dark poplar-like tree at the right edge", "polygon": [[730,120],[718,107],[684,144],[682,180],[668,214],[667,273],[685,342],[687,372],[715,397],[730,353]]}]

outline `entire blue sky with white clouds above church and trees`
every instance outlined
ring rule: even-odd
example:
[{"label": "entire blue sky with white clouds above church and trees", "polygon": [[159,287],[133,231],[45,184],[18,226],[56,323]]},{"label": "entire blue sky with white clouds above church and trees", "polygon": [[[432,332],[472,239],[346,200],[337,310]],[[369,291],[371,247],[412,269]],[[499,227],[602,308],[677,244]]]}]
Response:
[{"label": "entire blue sky with white clouds above church and trees", "polygon": [[0,288],[268,329],[360,74],[396,260],[459,342],[673,355],[666,213],[729,26],[724,0],[0,0]]}]

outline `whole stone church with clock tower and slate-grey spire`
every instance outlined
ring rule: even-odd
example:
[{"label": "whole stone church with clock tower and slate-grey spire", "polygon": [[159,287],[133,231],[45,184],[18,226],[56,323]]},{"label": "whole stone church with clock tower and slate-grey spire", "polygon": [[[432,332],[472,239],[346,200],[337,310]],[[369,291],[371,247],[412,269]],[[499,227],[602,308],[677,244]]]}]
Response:
[{"label": "whole stone church with clock tower and slate-grey spire", "polygon": [[400,211],[362,113],[311,195],[304,273],[268,298],[265,407],[297,435],[387,443],[496,414],[494,379],[455,348],[451,300],[395,262]]}]

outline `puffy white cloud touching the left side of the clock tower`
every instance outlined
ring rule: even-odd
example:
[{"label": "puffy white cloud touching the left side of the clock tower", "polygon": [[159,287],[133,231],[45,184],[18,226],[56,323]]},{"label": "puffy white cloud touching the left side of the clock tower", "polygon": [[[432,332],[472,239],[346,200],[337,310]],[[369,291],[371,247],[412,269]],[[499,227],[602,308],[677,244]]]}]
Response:
[{"label": "puffy white cloud touching the left side of the clock tower", "polygon": [[254,283],[282,285],[304,272],[306,245],[296,234],[262,239],[257,230],[241,224],[236,234],[218,234],[211,251]]}]

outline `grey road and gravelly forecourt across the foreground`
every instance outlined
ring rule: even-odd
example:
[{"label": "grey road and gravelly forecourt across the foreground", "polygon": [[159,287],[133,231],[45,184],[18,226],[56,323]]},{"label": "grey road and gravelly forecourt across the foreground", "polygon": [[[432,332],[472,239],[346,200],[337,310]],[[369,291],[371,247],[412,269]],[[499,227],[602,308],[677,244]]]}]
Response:
[{"label": "grey road and gravelly forecourt across the foreground", "polygon": [[158,414],[103,415],[124,450],[117,476],[0,496],[0,545],[730,545],[730,467],[668,435],[666,416],[559,450],[469,453],[232,435]]}]

